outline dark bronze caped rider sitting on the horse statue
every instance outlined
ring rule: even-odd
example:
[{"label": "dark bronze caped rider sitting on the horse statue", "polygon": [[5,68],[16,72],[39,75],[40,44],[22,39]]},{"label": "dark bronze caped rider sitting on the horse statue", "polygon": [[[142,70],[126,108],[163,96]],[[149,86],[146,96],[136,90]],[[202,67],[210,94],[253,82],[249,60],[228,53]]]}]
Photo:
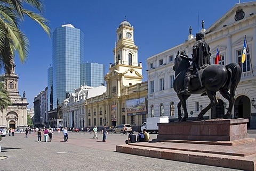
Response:
[{"label": "dark bronze caped rider sitting on the horse statue", "polygon": [[[210,46],[207,44],[207,42],[204,40],[204,34],[203,33],[196,33],[196,42],[193,46],[193,58],[188,60],[192,61],[193,63],[189,66],[188,70],[186,71],[186,76],[184,79],[184,89],[180,91],[180,94],[187,95],[189,93],[188,91],[188,85],[190,83],[191,74],[193,71],[197,71],[200,69],[204,69],[206,66],[210,65]],[[199,77],[199,81],[201,82],[201,78]],[[201,83],[202,86],[202,83]]]}]

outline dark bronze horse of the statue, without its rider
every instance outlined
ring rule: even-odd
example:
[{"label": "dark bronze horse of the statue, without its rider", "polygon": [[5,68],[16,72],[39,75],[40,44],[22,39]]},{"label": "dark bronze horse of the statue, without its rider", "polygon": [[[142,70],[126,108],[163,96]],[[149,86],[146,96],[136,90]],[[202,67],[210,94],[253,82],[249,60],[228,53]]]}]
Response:
[{"label": "dark bronze horse of the statue, without its rider", "polygon": [[[183,57],[182,57],[183,56]],[[183,89],[184,78],[186,71],[190,66],[190,62],[186,53],[181,53],[176,56],[174,61],[173,70],[175,71],[175,79],[173,82],[173,89],[177,92],[177,96],[180,99],[178,103],[178,117],[179,121],[186,121],[188,118],[188,111],[186,100],[191,96],[191,94],[202,94],[206,95],[210,99],[210,104],[207,105],[198,114],[197,119],[203,119],[204,114],[218,104],[216,98],[216,92],[219,91],[221,95],[229,101],[228,111],[222,118],[229,118],[231,116],[231,110],[235,102],[235,91],[237,85],[241,79],[241,67],[237,63],[230,63],[228,65],[209,65],[205,69],[199,70],[201,75],[202,87],[198,80],[198,73],[194,73],[189,84],[188,95],[179,94],[180,90]],[[181,116],[181,105],[184,110],[184,116]]]}]

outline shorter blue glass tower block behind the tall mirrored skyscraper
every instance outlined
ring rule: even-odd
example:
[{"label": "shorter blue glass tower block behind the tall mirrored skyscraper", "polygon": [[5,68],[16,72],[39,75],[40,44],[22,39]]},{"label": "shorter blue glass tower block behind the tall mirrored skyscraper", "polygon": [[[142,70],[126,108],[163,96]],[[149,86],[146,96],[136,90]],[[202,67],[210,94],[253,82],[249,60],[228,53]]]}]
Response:
[{"label": "shorter blue glass tower block behind the tall mirrored skyscraper", "polygon": [[81,85],[98,87],[104,85],[104,65],[98,63],[81,64]]}]

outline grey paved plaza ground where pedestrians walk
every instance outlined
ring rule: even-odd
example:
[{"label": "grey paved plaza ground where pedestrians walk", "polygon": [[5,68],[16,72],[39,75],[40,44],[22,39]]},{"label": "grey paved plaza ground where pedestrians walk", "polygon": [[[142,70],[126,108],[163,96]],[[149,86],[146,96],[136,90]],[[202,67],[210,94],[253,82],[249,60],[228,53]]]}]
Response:
[{"label": "grey paved plaza ground where pedestrians walk", "polygon": [[[256,131],[249,130],[255,138]],[[63,134],[54,132],[52,142],[37,142],[36,133],[16,133],[2,138],[0,170],[234,170],[128,155],[115,152],[115,146],[124,144],[128,134],[107,135],[107,142],[93,139],[89,132],[69,132],[68,142]],[[151,139],[156,134],[150,134]],[[42,139],[43,140],[43,139]]]}]

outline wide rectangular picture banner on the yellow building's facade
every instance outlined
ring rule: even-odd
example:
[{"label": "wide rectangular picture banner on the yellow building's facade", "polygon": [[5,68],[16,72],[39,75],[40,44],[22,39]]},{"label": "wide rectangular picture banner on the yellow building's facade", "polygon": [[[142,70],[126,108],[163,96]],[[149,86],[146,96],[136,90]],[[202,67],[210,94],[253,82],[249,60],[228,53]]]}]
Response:
[{"label": "wide rectangular picture banner on the yellow building's facade", "polygon": [[147,114],[146,98],[127,100],[126,111],[128,116]]}]

